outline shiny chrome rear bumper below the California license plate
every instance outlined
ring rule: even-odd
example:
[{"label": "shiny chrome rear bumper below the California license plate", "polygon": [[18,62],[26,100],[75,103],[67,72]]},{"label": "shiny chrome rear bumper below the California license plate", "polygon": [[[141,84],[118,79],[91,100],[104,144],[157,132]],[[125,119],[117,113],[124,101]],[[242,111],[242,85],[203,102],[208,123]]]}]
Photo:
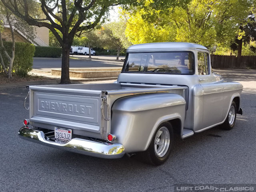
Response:
[{"label": "shiny chrome rear bumper below the California license plate", "polygon": [[100,158],[121,158],[125,153],[124,146],[121,144],[96,142],[81,138],[74,138],[65,144],[59,144],[46,140],[47,137],[44,135],[44,132],[30,129],[26,126],[20,128],[18,135],[28,141]]}]

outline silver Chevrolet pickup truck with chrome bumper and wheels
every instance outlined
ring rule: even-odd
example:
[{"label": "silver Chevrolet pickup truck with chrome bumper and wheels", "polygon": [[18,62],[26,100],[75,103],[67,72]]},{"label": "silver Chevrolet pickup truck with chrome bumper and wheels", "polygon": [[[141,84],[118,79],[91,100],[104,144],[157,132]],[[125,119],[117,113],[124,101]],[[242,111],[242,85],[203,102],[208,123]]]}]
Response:
[{"label": "silver Chevrolet pickup truck with chrome bumper and wheels", "polygon": [[18,134],[102,158],[138,153],[160,165],[174,133],[186,138],[217,125],[232,129],[242,114],[242,88],[212,72],[204,46],[133,45],[115,83],[29,86],[30,116]]}]

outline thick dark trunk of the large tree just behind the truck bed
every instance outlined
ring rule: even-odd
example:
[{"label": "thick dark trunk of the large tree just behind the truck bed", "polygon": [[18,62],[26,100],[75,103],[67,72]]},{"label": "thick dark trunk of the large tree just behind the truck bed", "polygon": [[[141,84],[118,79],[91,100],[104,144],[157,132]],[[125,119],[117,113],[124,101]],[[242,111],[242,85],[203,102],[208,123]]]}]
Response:
[{"label": "thick dark trunk of the large tree just behind the truck bed", "polygon": [[70,47],[67,43],[62,46],[62,63],[60,84],[70,84],[69,78],[69,52]]}]

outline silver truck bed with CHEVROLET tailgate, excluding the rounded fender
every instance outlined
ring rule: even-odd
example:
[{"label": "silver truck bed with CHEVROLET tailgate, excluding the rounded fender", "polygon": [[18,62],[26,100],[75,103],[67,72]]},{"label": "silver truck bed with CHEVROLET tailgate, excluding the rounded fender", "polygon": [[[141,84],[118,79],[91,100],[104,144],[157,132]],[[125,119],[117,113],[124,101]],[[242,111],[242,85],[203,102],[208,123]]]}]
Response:
[{"label": "silver truck bed with CHEVROLET tailgate, excluding the rounded fender", "polygon": [[111,129],[111,106],[119,98],[168,92],[188,101],[188,88],[154,84],[68,84],[29,86],[30,124],[54,130],[70,128],[74,135],[105,139]]}]

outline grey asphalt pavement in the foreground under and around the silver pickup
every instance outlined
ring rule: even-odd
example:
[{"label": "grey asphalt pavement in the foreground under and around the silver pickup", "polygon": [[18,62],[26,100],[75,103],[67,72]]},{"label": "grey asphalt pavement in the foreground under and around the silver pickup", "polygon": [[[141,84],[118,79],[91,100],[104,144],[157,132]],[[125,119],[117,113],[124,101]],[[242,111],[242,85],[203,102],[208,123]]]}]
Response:
[{"label": "grey asphalt pavement in the foreground under and around the silver pickup", "polygon": [[24,88],[0,90],[0,191],[172,191],[175,184],[256,183],[256,70],[218,71],[244,85],[233,130],[218,127],[184,140],[170,158],[151,166],[124,158],[107,160],[34,144],[18,137]]}]

